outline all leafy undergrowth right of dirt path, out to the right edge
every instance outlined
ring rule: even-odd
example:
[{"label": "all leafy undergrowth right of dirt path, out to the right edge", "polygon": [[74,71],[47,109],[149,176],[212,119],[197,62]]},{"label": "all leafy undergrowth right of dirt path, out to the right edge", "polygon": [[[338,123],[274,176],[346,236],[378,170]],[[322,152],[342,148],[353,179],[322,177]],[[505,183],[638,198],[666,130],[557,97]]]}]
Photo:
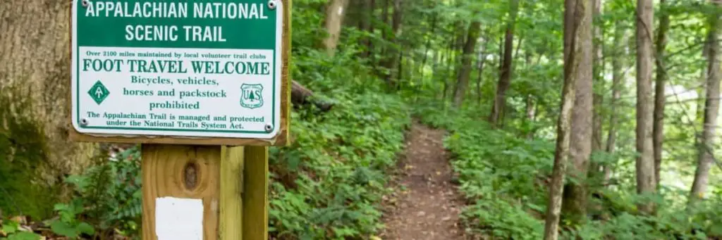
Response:
[{"label": "all leafy undergrowth right of dirt path, out to the right edge", "polygon": [[[430,104],[414,114],[449,130],[445,147],[467,199],[461,219],[469,234],[486,239],[541,239],[547,208],[547,181],[554,159],[553,139],[520,137],[490,128],[479,111]],[[633,161],[631,163],[634,164]],[[601,207],[590,221],[568,226],[562,239],[716,239],[722,236],[722,197],[687,208],[686,191],[663,191],[655,216],[635,214],[634,185],[599,190]],[[681,203],[681,204],[680,204]]]}]

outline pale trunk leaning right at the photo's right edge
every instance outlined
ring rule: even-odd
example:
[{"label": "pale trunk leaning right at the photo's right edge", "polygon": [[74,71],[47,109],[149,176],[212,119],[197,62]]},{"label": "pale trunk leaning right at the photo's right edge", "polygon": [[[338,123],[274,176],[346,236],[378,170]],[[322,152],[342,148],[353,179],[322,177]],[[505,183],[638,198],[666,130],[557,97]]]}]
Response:
[{"label": "pale trunk leaning right at the photo's right edge", "polygon": [[[714,3],[716,7],[719,5]],[[720,107],[720,62],[719,52],[719,27],[722,23],[719,14],[710,17],[710,48],[708,57],[708,78],[707,97],[705,99],[705,122],[703,125],[702,139],[700,140],[699,154],[697,159],[697,171],[695,180],[692,182],[690,202],[703,198],[707,192],[710,166],[714,161],[713,148],[717,143],[717,116]]]}]

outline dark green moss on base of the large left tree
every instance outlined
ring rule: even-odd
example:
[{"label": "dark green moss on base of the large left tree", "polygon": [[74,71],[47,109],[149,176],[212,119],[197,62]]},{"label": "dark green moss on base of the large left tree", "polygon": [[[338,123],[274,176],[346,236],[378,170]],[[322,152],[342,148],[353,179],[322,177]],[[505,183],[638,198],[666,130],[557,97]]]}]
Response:
[{"label": "dark green moss on base of the large left tree", "polygon": [[59,188],[40,176],[48,162],[48,146],[41,123],[22,114],[32,108],[23,95],[14,88],[0,94],[0,210],[4,215],[45,218],[52,213]]}]

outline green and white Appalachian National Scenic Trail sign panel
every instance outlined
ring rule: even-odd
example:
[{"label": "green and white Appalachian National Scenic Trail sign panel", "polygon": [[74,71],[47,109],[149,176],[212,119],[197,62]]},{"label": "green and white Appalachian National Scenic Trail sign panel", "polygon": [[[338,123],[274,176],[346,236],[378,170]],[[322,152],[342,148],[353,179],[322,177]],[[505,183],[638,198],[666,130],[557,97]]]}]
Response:
[{"label": "green and white Appalachian National Scenic Trail sign panel", "polygon": [[74,0],[79,133],[273,138],[282,1]]}]

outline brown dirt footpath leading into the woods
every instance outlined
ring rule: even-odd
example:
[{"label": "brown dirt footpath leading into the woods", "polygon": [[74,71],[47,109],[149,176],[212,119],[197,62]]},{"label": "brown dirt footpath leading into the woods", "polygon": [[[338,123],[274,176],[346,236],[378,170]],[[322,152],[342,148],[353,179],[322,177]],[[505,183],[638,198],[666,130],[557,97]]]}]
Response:
[{"label": "brown dirt footpath leading into the woods", "polygon": [[414,121],[406,154],[394,177],[396,192],[386,196],[383,240],[464,239],[458,227],[461,197],[443,146],[445,131]]}]

